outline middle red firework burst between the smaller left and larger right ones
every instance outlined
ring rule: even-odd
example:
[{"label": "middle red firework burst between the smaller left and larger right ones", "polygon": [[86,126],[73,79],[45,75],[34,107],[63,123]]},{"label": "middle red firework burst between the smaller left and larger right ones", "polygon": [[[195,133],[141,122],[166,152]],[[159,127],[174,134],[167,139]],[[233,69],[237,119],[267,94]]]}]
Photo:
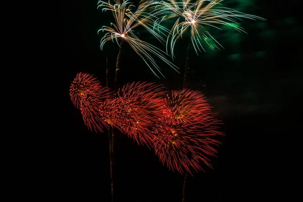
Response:
[{"label": "middle red firework burst between the smaller left and larger right ones", "polygon": [[100,114],[112,126],[118,128],[138,144],[154,145],[155,126],[159,112],[165,105],[162,86],[147,82],[125,85],[114,99],[100,106]]}]

